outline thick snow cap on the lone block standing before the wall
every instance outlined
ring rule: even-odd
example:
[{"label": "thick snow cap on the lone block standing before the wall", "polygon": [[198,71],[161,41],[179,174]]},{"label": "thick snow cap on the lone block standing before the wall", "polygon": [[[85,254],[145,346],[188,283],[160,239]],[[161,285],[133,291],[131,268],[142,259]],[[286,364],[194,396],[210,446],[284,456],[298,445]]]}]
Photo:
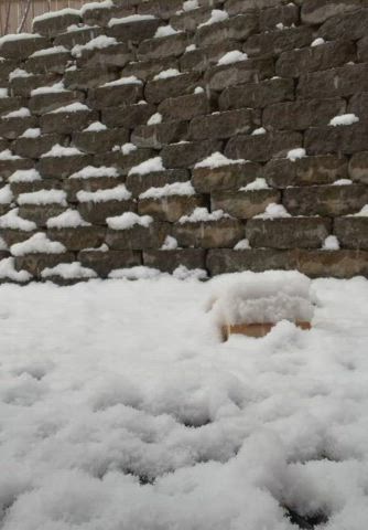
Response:
[{"label": "thick snow cap on the lone block standing before the wall", "polygon": [[212,316],[221,325],[311,321],[311,280],[297,272],[268,271],[213,283]]}]

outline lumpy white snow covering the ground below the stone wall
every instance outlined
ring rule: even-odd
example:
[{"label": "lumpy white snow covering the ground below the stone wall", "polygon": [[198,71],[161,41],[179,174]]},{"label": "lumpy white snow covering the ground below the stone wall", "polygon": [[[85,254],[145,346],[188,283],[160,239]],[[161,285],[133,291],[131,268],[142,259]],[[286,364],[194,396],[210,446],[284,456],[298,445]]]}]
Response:
[{"label": "lumpy white snow covering the ground below the stone wall", "polygon": [[368,282],[226,343],[216,282],[0,287],[1,530],[367,528]]}]

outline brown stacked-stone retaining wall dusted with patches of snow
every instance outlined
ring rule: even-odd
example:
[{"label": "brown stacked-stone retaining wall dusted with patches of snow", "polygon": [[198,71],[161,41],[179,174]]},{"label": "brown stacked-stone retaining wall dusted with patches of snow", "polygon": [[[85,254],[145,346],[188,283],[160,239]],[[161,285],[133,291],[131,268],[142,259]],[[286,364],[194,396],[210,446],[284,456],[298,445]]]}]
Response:
[{"label": "brown stacked-stone retaining wall dusted with patches of snow", "polygon": [[367,26],[367,0],[107,0],[0,40],[0,282],[368,276]]}]

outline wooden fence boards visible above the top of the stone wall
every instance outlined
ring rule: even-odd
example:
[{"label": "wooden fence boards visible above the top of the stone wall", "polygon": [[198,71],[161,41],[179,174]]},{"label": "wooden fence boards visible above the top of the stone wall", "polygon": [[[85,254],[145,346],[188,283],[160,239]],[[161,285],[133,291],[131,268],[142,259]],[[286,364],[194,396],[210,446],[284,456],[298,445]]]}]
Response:
[{"label": "wooden fence boards visible above the top of the stone wall", "polygon": [[88,1],[91,0],[0,0],[0,33],[18,33],[24,15],[22,31],[31,32],[34,17],[65,8],[80,9]]}]

